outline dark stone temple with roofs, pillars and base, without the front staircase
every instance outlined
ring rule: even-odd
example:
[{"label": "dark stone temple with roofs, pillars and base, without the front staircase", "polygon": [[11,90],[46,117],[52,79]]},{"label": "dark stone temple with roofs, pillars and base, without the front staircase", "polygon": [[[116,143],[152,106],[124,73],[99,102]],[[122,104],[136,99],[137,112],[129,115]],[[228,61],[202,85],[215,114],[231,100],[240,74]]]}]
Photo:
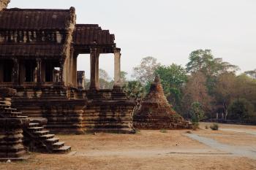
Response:
[{"label": "dark stone temple with roofs, pillars and base, without the front staircase", "polygon": [[[0,87],[14,88],[12,104],[44,117],[61,133],[133,133],[132,109],[120,87],[121,49],[97,24],[77,24],[75,8],[0,11]],[[115,85],[99,89],[100,54],[113,53]],[[84,90],[79,54],[90,54],[91,85]]]}]

